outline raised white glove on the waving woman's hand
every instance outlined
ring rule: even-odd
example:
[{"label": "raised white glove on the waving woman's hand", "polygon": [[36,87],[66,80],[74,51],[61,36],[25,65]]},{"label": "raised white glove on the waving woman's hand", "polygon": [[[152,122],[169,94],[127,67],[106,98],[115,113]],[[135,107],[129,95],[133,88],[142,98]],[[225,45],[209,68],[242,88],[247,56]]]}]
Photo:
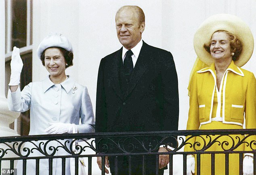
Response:
[{"label": "raised white glove on the waving woman's hand", "polygon": [[19,55],[19,48],[13,47],[12,60],[10,61],[10,83],[9,85],[19,85],[23,63]]}]

